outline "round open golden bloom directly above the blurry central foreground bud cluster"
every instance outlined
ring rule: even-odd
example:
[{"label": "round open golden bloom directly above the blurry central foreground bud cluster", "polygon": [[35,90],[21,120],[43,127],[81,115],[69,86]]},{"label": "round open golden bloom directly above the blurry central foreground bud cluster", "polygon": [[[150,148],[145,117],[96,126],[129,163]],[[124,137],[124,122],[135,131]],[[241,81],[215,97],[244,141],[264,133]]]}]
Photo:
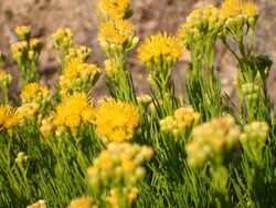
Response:
[{"label": "round open golden bloom directly above the blurry central foreground bud cluster", "polygon": [[104,143],[131,141],[139,125],[138,107],[121,101],[106,101],[95,113],[96,132]]}]

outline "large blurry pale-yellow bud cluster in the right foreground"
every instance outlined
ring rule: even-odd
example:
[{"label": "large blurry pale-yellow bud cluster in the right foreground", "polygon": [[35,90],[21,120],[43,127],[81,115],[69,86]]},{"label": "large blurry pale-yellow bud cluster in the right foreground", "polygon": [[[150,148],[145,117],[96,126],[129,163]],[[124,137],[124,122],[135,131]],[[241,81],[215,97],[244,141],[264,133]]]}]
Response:
[{"label": "large blurry pale-yellow bud cluster in the right foreground", "polygon": [[213,118],[193,128],[192,141],[185,146],[189,166],[199,168],[208,162],[221,165],[238,144],[240,135],[240,127],[231,116]]}]

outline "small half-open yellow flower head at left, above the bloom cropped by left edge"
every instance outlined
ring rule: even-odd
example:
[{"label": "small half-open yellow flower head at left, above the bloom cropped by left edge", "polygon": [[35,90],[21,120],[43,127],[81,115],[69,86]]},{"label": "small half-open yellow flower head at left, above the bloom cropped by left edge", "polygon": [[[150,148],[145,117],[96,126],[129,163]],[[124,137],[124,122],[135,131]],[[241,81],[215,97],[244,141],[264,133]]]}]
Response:
[{"label": "small half-open yellow flower head at left, above the bloom cropped by left edge", "polygon": [[25,102],[41,102],[45,101],[50,94],[50,91],[47,87],[40,85],[36,82],[28,84],[21,93],[21,97],[23,103]]}]

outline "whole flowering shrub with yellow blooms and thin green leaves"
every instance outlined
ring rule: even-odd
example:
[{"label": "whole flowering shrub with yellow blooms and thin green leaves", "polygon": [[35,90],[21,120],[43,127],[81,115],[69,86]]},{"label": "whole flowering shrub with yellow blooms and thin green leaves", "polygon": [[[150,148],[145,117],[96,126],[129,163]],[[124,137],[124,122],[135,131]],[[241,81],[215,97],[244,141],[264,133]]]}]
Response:
[{"label": "whole flowering shrub with yellow blooms and thin green leaves", "polygon": [[[52,35],[61,59],[53,91],[39,83],[41,41],[29,25],[14,29],[23,87],[11,102],[12,76],[0,70],[0,207],[275,207],[276,117],[266,89],[273,62],[253,52],[257,6],[208,4],[177,34],[142,40],[137,58],[151,95],[140,96],[126,64],[139,42],[129,1],[97,0],[96,11],[109,93],[98,102],[93,91],[103,71],[71,29]],[[219,41],[238,66],[235,103],[221,91]],[[192,63],[181,98],[171,72],[184,50]]]}]

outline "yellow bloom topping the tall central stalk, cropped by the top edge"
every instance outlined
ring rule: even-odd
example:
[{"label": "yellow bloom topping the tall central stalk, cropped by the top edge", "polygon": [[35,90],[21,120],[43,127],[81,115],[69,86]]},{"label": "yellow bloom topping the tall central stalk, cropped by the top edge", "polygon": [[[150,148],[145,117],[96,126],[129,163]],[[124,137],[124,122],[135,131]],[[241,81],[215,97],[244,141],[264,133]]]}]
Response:
[{"label": "yellow bloom topping the tall central stalk, cropped by the top edge", "polygon": [[128,8],[128,0],[98,0],[98,10],[112,19],[123,19]]}]

